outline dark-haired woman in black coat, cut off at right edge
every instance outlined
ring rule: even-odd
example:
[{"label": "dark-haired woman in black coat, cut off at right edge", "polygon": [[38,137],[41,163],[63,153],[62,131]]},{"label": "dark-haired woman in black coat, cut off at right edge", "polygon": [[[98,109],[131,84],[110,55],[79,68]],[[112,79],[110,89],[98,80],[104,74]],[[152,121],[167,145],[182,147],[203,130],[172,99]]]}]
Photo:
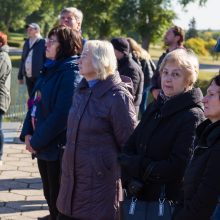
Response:
[{"label": "dark-haired woman in black coat, cut off at right edge", "polygon": [[198,145],[184,176],[184,207],[175,220],[219,219],[211,216],[220,195],[220,75],[211,81],[203,103],[207,120],[196,130]]}]

